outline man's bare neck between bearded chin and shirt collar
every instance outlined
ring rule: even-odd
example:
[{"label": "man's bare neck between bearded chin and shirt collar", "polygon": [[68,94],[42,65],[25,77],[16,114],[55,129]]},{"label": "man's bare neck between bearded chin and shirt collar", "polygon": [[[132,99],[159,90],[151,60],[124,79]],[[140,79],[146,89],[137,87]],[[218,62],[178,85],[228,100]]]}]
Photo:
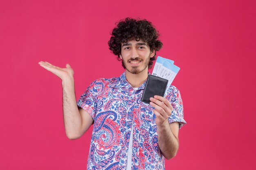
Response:
[{"label": "man's bare neck between bearded chin and shirt collar", "polygon": [[126,70],[126,79],[132,87],[139,87],[148,77],[148,68],[138,74],[132,74]]}]

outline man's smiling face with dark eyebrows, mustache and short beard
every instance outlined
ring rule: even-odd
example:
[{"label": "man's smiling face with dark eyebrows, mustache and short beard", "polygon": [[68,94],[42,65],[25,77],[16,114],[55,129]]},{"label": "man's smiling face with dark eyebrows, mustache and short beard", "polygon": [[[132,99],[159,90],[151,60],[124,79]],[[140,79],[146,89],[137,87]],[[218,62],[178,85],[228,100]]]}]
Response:
[{"label": "man's smiling face with dark eyebrows, mustache and short beard", "polygon": [[155,51],[150,51],[150,47],[143,40],[130,40],[121,44],[122,64],[126,70],[132,74],[138,74],[148,68],[150,57],[155,55]]}]

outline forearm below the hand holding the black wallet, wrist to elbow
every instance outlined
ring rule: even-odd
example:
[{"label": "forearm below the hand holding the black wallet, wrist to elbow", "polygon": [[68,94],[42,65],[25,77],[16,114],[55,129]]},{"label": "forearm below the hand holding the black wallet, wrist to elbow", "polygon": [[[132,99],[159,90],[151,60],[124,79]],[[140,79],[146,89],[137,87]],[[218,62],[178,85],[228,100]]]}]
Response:
[{"label": "forearm below the hand holding the black wallet, wrist to elbow", "polygon": [[175,157],[179,148],[179,141],[175,135],[173,135],[168,121],[165,122],[165,124],[162,124],[162,126],[157,126],[157,133],[158,145],[162,155],[164,155],[166,159]]}]

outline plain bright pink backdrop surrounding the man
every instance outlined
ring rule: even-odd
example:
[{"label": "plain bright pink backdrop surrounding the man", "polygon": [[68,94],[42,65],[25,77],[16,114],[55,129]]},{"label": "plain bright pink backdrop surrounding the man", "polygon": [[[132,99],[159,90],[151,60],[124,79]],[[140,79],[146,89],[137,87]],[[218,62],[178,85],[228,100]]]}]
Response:
[{"label": "plain bright pink backdrop surrounding the man", "polygon": [[[115,22],[150,20],[175,61],[184,119],[166,170],[256,168],[256,3],[253,0],[0,0],[0,169],[84,170],[92,128],[65,135],[61,79],[38,65],[74,69],[76,99],[124,69],[110,53]],[[150,70],[152,72],[152,70]]]}]

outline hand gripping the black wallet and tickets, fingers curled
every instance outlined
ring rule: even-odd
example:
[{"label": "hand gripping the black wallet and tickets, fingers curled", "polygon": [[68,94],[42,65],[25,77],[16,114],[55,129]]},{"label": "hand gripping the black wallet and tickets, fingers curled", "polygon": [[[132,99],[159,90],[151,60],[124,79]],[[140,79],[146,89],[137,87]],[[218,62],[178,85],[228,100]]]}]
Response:
[{"label": "hand gripping the black wallet and tickets, fingers curled", "polygon": [[150,97],[150,101],[150,105],[155,108],[153,110],[156,116],[155,124],[157,126],[164,126],[166,122],[168,123],[168,117],[171,115],[173,106],[171,106],[166,98],[158,95]]}]

